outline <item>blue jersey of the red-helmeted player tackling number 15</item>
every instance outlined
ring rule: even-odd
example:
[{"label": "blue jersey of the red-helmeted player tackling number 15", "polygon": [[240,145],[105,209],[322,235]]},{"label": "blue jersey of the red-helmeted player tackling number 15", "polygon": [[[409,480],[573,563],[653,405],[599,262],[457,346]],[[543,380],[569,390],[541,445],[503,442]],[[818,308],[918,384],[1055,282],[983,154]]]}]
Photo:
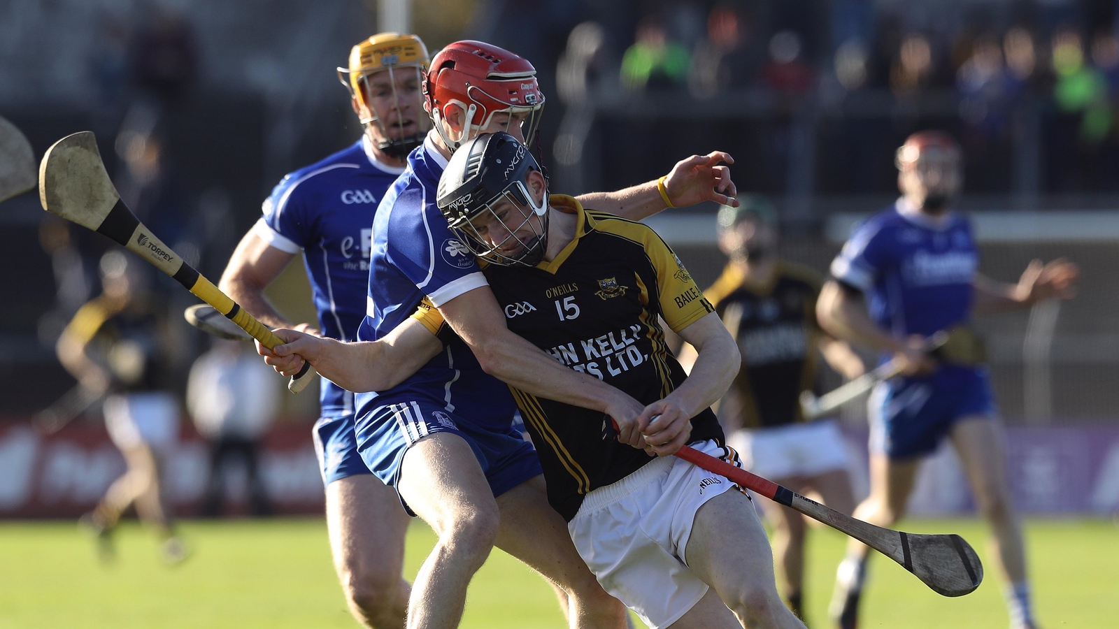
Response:
[{"label": "blue jersey of the red-helmeted player tackling number 15", "polygon": [[[446,160],[429,138],[408,156],[404,175],[377,208],[369,298],[359,340],[377,340],[391,332],[416,311],[424,297],[440,307],[487,285],[474,256],[451,233],[435,205],[444,168]],[[442,354],[395,388],[357,395],[358,448],[370,469],[376,467],[366,452],[375,428],[370,424],[382,421],[374,412],[413,401],[438,405],[477,428],[505,432],[516,412],[508,386],[486,374],[470,348],[455,337]]]}]

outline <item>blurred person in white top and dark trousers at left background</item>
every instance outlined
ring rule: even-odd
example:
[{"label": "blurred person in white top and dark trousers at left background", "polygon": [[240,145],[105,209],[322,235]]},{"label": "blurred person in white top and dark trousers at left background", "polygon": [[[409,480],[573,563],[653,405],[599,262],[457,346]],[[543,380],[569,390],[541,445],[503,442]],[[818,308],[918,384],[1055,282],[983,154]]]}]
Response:
[{"label": "blurred person in white top and dark trousers at left background", "polygon": [[203,517],[222,513],[223,471],[241,461],[248,478],[250,509],[270,515],[272,507],[261,476],[260,444],[280,406],[276,378],[261,363],[252,344],[214,339],[214,347],[195,360],[187,381],[187,410],[208,442],[209,480]]}]

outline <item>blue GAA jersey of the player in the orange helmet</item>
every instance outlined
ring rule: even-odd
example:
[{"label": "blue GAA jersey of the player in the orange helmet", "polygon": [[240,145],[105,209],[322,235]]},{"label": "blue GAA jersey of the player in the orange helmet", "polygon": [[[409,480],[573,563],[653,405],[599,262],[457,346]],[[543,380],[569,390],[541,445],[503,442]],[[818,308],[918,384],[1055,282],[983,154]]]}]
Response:
[{"label": "blue GAA jersey of the player in the orange helmet", "polygon": [[[357,338],[374,213],[402,172],[378,162],[363,134],[350,148],[284,177],[264,201],[253,232],[275,248],[303,253],[325,336]],[[323,417],[354,413],[354,394],[330,381],[322,379],[320,401]]]}]

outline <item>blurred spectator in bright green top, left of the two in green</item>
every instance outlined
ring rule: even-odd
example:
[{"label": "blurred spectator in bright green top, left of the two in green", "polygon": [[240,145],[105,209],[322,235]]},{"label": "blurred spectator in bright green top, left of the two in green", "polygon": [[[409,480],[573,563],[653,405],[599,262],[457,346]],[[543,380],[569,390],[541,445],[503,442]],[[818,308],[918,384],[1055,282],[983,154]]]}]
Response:
[{"label": "blurred spectator in bright green top, left of the two in green", "polygon": [[622,56],[622,86],[631,92],[677,86],[687,81],[688,51],[668,39],[659,18],[647,17],[637,27],[637,41]]}]

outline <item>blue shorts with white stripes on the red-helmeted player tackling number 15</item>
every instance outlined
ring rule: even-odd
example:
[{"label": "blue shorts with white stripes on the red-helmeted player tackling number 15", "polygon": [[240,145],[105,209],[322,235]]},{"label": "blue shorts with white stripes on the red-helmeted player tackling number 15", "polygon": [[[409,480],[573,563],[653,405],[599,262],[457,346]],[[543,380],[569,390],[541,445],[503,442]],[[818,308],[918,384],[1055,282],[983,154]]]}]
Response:
[{"label": "blue shorts with white stripes on the red-helmeted player tackling number 15", "polygon": [[458,434],[470,445],[495,497],[544,473],[533,444],[511,425],[479,425],[427,401],[375,406],[360,422],[358,451],[373,473],[395,488],[404,453],[436,432]]}]

